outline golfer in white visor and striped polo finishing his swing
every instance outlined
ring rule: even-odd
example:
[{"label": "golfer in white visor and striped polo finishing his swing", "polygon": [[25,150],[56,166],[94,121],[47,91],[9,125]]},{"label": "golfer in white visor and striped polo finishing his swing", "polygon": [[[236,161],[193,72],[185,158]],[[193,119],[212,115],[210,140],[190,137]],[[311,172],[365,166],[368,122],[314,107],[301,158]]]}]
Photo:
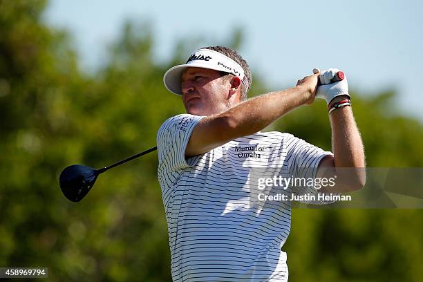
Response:
[{"label": "golfer in white visor and striped polo finishing his swing", "polygon": [[[267,176],[315,179],[334,176],[340,167],[365,166],[346,78],[330,83],[336,73],[316,71],[293,88],[248,100],[247,62],[235,50],[215,46],[196,50],[164,74],[164,85],[182,96],[187,111],[166,120],[157,135],[173,281],[288,281],[281,248],[290,232],[290,205],[252,205],[257,185],[251,175],[263,169]],[[319,80],[324,85],[318,88]],[[261,132],[316,95],[328,102],[333,153],[290,133]],[[364,181],[356,173],[332,187],[284,190],[338,194],[360,189]]]}]

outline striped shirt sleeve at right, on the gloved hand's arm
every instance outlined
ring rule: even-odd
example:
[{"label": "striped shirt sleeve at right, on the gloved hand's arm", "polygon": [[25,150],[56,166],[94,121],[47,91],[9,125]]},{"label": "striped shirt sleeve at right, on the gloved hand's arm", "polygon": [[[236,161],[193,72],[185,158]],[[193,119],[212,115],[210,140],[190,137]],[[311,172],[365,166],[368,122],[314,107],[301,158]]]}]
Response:
[{"label": "striped shirt sleeve at right, on the gloved hand's arm", "polygon": [[319,200],[319,182],[316,180],[317,169],[320,161],[326,156],[333,156],[330,151],[316,147],[294,135],[289,135],[288,167],[296,180],[292,185],[292,193],[297,195],[310,195],[314,200],[301,200],[300,203],[324,205],[334,203],[333,200]]}]

